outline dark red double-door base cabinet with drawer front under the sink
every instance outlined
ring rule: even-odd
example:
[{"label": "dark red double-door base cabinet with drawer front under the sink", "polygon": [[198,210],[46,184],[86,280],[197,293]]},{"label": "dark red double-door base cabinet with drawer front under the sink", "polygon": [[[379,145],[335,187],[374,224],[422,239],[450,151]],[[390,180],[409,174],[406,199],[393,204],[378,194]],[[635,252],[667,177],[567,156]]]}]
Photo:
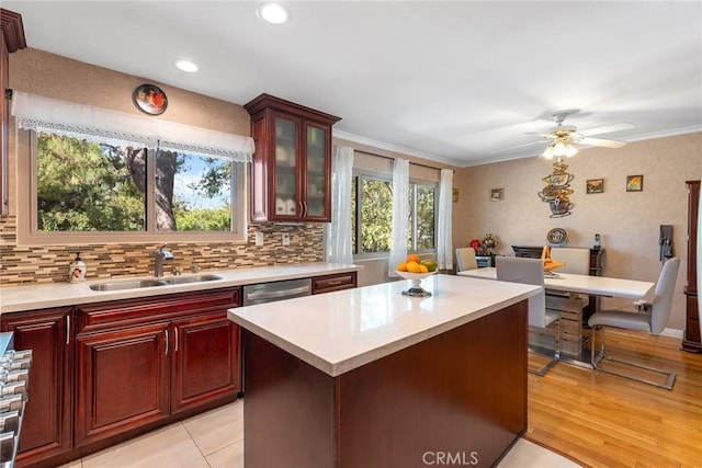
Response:
[{"label": "dark red double-door base cabinet with drawer front under the sink", "polygon": [[240,288],[77,307],[76,445],[236,400]]}]

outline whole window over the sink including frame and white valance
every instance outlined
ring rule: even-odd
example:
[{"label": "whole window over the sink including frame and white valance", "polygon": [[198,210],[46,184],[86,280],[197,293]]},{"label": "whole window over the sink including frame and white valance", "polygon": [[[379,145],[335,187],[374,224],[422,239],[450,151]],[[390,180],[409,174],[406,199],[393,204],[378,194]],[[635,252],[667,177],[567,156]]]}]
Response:
[{"label": "whole window over the sink including frame and white valance", "polygon": [[20,243],[245,240],[250,138],[16,94]]}]

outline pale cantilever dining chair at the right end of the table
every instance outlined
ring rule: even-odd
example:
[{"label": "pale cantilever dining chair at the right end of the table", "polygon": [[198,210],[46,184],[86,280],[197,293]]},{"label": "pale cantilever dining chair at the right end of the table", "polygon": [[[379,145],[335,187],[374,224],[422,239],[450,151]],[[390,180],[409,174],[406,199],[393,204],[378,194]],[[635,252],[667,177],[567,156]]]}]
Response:
[{"label": "pale cantilever dining chair at the right end of the table", "polygon": [[[668,324],[670,318],[670,308],[672,305],[672,295],[676,288],[676,281],[678,278],[678,270],[680,269],[680,259],[669,259],[660,271],[660,276],[656,283],[656,289],[654,290],[654,299],[650,304],[650,310],[643,312],[625,311],[625,310],[601,310],[596,312],[588,320],[588,324],[592,328],[592,343],[591,343],[591,358],[592,367],[597,370],[614,374],[620,377],[626,377],[633,380],[637,380],[644,384],[654,385],[656,387],[666,388],[672,390],[672,384],[676,380],[676,373],[669,370],[663,370],[655,367],[646,366],[644,364],[634,363],[631,361],[618,359],[610,356],[604,350],[604,328],[611,327],[622,330],[634,330],[648,332],[655,336]],[[596,355],[596,341],[598,331],[601,331],[601,343],[599,352]],[[623,372],[608,369],[600,366],[602,359],[607,359],[613,363],[618,363],[622,366],[632,366],[641,369],[645,369],[652,373],[663,374],[667,376],[666,384],[660,384],[654,380],[648,380],[643,377],[635,376],[633,374],[625,374]]]}]

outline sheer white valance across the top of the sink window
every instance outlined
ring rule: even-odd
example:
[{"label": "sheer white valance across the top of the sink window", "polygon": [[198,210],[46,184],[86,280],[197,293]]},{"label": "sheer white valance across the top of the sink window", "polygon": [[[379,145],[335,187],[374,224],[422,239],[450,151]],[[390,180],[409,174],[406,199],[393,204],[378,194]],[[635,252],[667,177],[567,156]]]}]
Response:
[{"label": "sheer white valance across the top of the sink window", "polygon": [[20,128],[115,146],[160,148],[234,161],[250,161],[254,149],[250,137],[21,91],[12,93],[11,114]]}]

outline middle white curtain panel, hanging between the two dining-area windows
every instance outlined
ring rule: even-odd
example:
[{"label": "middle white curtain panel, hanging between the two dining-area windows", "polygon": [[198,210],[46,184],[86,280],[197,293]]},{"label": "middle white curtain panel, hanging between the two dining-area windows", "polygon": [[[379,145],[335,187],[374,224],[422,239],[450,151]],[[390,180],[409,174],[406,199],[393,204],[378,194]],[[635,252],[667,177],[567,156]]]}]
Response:
[{"label": "middle white curtain panel, hanging between the two dining-area windows", "polygon": [[397,277],[395,266],[407,258],[409,236],[409,161],[395,159],[393,169],[393,230],[388,276]]}]

